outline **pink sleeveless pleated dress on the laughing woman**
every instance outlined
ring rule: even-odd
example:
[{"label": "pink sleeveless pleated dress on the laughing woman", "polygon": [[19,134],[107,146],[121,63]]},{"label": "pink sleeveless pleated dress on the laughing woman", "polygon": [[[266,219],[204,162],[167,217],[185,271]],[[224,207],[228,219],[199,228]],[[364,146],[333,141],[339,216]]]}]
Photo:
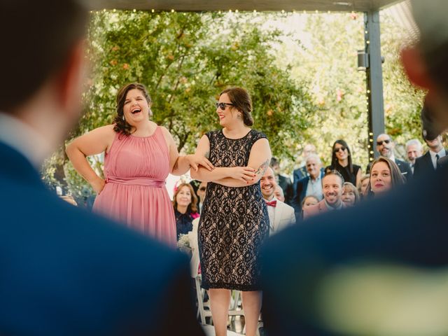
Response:
[{"label": "pink sleeveless pleated dress on the laughing woman", "polygon": [[106,186],[93,210],[176,246],[168,174],[169,149],[160,127],[150,137],[116,134],[104,158]]}]

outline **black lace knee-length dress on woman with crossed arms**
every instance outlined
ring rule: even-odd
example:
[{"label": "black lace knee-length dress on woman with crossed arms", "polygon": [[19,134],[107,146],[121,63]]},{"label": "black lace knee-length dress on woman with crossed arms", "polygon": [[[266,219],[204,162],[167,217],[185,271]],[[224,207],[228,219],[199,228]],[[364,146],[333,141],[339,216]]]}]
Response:
[{"label": "black lace knee-length dress on woman with crossed arms", "polygon": [[[265,134],[251,130],[241,139],[223,131],[206,134],[215,167],[244,167],[255,141]],[[208,183],[198,228],[202,288],[260,290],[260,246],[269,235],[269,217],[260,183],[241,188]]]}]

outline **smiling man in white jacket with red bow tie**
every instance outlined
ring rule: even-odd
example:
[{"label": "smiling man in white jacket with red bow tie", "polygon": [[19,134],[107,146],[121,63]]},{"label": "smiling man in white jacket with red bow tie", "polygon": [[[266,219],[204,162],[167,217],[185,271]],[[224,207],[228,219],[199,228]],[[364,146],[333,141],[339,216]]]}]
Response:
[{"label": "smiling man in white jacket with red bow tie", "polygon": [[274,195],[276,182],[274,171],[271,167],[266,169],[265,175],[260,179],[260,187],[269,214],[269,235],[273,235],[288,225],[294,224],[294,208],[277,200]]}]

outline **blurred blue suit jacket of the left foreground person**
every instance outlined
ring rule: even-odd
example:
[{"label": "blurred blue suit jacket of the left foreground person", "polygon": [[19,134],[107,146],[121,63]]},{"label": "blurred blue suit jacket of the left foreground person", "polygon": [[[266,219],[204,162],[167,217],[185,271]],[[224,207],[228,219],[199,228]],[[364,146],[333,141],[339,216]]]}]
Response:
[{"label": "blurred blue suit jacket of the left foreground person", "polygon": [[1,335],[203,335],[183,255],[59,200],[1,143],[0,158]]}]

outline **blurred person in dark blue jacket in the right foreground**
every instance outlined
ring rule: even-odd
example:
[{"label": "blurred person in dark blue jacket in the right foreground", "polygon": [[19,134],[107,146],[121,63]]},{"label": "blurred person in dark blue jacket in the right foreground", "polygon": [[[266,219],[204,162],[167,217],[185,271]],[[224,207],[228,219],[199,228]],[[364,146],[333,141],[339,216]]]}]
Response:
[{"label": "blurred person in dark blue jacket in the right foreground", "polygon": [[[448,127],[448,2],[410,2],[421,39],[402,50],[402,64],[428,90],[440,134]],[[448,335],[438,294],[447,279],[448,167],[431,175],[271,237],[262,253],[269,336]]]}]

